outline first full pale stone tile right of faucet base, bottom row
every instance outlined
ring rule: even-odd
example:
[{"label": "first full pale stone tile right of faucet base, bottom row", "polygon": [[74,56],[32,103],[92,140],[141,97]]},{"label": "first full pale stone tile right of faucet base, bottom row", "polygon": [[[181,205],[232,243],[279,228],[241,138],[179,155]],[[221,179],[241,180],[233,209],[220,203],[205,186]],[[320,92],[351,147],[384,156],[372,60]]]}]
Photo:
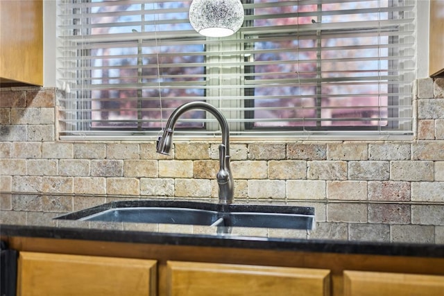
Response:
[{"label": "first full pale stone tile right of faucet base, bottom row", "polygon": [[284,199],[284,180],[248,180],[248,197],[259,199]]}]

